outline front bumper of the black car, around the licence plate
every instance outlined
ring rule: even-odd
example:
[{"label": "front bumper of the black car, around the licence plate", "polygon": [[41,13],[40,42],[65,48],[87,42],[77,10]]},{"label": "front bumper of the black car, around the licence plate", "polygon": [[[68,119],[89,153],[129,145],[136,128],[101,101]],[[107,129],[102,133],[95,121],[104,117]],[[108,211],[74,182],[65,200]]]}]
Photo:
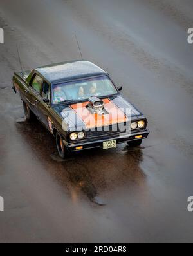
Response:
[{"label": "front bumper of the black car, around the licence plate", "polygon": [[[66,147],[69,151],[82,151],[86,149],[95,149],[95,148],[103,148],[103,142],[107,142],[109,140],[116,140],[116,144],[131,142],[134,140],[142,140],[147,138],[149,135],[149,130],[138,131],[136,133],[123,133],[119,136],[108,136],[97,138],[95,140],[84,140],[82,142],[76,142],[73,144],[66,144]],[[142,138],[136,138],[136,136],[142,136]]]}]

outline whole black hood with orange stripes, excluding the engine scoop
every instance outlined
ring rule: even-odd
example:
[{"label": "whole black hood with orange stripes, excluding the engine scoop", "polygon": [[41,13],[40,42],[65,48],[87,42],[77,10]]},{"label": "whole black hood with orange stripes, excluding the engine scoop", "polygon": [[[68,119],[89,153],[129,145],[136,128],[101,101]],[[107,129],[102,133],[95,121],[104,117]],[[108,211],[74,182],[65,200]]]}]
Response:
[{"label": "whole black hood with orange stripes, excluding the engine scoop", "polygon": [[62,128],[66,131],[82,131],[125,123],[137,118],[141,113],[122,96],[106,98],[104,101],[105,114],[90,112],[87,108],[89,101],[68,106],[60,106],[55,111],[63,119]]}]

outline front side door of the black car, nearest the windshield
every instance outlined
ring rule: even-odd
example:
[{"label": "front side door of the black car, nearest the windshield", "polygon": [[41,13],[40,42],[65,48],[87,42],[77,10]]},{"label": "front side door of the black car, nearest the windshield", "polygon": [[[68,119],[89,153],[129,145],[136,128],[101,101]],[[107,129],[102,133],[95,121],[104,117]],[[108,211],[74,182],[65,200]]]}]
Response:
[{"label": "front side door of the black car, nearest the windshield", "polygon": [[40,96],[41,97],[37,102],[38,118],[48,129],[50,129],[50,120],[48,118],[50,114],[50,84],[45,80],[42,82]]}]

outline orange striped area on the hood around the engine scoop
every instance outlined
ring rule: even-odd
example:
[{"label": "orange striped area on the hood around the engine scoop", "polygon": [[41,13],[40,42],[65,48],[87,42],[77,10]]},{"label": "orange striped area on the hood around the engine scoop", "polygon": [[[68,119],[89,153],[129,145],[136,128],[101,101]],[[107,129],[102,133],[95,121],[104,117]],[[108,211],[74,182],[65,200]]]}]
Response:
[{"label": "orange striped area on the hood around the engine scoop", "polygon": [[77,103],[71,105],[71,108],[78,114],[78,116],[80,116],[80,118],[82,118],[82,121],[86,124],[88,129],[124,123],[127,121],[124,112],[111,100],[105,99],[103,101],[104,108],[109,114],[92,114],[86,107],[89,102]]}]

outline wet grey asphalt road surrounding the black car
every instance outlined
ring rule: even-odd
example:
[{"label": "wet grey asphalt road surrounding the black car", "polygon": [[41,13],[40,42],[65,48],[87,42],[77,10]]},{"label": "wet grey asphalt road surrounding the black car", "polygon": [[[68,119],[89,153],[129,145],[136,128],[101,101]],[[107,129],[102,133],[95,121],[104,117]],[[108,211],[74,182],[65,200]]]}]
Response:
[{"label": "wet grey asphalt road surrounding the black car", "polygon": [[[193,242],[192,11],[190,0],[0,0],[0,242]],[[51,135],[24,122],[16,45],[24,70],[79,59],[75,32],[149,119],[142,147],[60,162]]]}]

